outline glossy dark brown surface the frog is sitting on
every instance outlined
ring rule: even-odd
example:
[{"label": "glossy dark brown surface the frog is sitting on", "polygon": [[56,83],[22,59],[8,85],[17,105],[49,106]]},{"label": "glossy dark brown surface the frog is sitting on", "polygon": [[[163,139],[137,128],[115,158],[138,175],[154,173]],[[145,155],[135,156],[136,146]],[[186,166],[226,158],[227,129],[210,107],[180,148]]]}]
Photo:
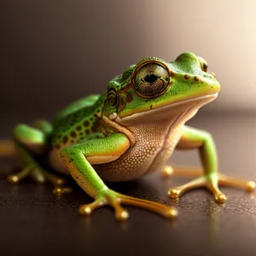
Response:
[{"label": "glossy dark brown surface the frog is sitting on", "polygon": [[[16,119],[21,119],[17,117]],[[15,119],[1,127],[5,137]],[[31,121],[26,117],[26,121]],[[256,180],[255,114],[198,113],[191,125],[211,131],[218,146],[220,171]],[[196,151],[177,151],[172,162],[198,165]],[[4,178],[12,160],[0,168],[0,251],[3,255],[255,255],[256,201],[253,195],[224,188],[224,205],[198,189],[177,202],[167,196],[170,187],[187,177],[163,179],[160,172],[136,182],[110,184],[125,195],[177,205],[179,216],[170,221],[151,212],[127,207],[129,220],[119,224],[112,209],[80,217],[79,205],[90,197],[73,183],[73,193],[56,198],[49,186],[30,181],[18,187]]]}]

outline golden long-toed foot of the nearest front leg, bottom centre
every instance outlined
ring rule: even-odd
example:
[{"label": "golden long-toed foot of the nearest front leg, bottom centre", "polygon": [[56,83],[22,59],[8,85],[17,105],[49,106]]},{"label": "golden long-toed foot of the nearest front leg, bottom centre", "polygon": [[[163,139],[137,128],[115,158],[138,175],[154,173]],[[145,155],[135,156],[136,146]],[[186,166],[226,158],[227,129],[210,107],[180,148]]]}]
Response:
[{"label": "golden long-toed foot of the nearest front leg, bottom centre", "polygon": [[127,195],[121,195],[111,189],[102,191],[96,196],[96,200],[94,202],[81,206],[79,212],[82,215],[90,215],[91,212],[94,212],[99,207],[110,206],[114,209],[115,218],[123,221],[129,218],[129,213],[121,207],[121,204],[141,207],[146,210],[156,212],[166,218],[175,218],[177,216],[177,209],[175,207],[167,207],[154,201],[146,201]]}]

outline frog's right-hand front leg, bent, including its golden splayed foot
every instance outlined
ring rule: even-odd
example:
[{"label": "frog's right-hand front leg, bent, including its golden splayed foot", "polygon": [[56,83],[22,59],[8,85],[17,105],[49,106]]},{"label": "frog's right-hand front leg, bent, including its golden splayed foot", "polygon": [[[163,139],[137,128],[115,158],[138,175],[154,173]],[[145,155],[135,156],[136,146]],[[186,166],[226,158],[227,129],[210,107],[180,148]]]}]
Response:
[{"label": "frog's right-hand front leg, bent, including its golden splayed foot", "polygon": [[[198,148],[201,156],[203,172],[200,170],[191,170],[191,172],[188,172],[188,175],[199,177],[189,183],[183,184],[182,186],[170,189],[168,194],[172,198],[177,198],[189,189],[207,187],[212,191],[216,201],[223,202],[226,200],[226,196],[218,189],[218,185],[234,186],[250,191],[255,188],[255,183],[252,181],[240,180],[218,173],[218,157],[216,148],[212,140],[212,136],[207,131],[201,131],[185,126],[183,136],[177,144],[177,148]],[[165,171],[166,173],[171,173],[171,167],[165,166]],[[177,173],[177,175],[184,175],[184,170],[175,170],[174,168],[174,174],[175,173]]]}]

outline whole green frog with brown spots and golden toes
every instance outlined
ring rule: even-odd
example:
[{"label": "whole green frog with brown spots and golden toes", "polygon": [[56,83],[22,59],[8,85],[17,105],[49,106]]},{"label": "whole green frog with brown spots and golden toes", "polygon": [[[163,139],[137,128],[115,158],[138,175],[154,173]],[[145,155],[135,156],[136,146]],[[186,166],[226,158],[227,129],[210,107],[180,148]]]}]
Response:
[{"label": "whole green frog with brown spots and golden toes", "polygon": [[[218,97],[220,84],[208,71],[207,61],[183,52],[175,61],[146,57],[108,82],[102,95],[90,95],[70,103],[51,121],[18,124],[12,145],[22,167],[10,174],[10,183],[32,177],[50,182],[56,195],[67,192],[67,177],[93,199],[79,207],[90,215],[104,206],[113,207],[115,218],[126,220],[124,205],[141,207],[166,218],[177,217],[177,207],[120,194],[106,183],[128,182],[161,170],[179,175],[166,164],[175,149],[197,149],[201,170],[189,183],[170,188],[166,195],[177,199],[191,189],[207,188],[215,201],[226,195],[219,185],[253,191],[253,181],[218,172],[218,154],[211,133],[186,125],[201,107]],[[0,154],[11,153],[2,143]],[[54,172],[45,168],[49,166]]]}]

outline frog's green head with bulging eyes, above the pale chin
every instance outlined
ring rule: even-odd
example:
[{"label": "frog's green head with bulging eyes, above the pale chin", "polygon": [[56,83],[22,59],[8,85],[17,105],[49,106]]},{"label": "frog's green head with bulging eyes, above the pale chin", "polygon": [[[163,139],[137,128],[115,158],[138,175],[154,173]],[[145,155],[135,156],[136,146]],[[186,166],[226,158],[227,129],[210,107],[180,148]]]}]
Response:
[{"label": "frog's green head with bulging eyes, above the pale chin", "polygon": [[183,53],[169,63],[145,58],[108,83],[104,114],[111,119],[131,119],[156,109],[166,113],[180,108],[177,106],[201,108],[220,90],[207,68],[207,61],[193,53]]}]

